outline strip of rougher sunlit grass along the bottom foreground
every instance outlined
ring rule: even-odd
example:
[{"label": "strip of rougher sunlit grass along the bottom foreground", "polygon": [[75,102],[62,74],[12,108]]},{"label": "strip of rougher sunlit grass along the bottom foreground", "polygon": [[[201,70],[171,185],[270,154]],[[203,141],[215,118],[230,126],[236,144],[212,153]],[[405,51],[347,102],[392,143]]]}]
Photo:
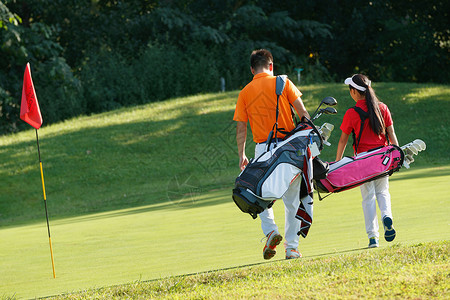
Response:
[{"label": "strip of rougher sunlit grass along the bottom foreground", "polygon": [[445,299],[449,241],[277,261],[50,299]]}]

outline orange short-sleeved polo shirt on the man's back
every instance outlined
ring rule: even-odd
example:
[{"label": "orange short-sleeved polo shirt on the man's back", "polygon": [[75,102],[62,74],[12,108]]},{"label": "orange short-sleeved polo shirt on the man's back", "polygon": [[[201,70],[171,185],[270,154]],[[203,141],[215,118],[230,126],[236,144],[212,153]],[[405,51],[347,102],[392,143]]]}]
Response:
[{"label": "orange short-sleeved polo shirt on the man's back", "polygon": [[[276,76],[259,73],[239,93],[233,120],[242,122],[250,120],[255,143],[265,142],[275,124],[277,107],[275,86]],[[278,128],[284,128],[286,131],[294,129],[289,104],[301,96],[302,93],[297,87],[287,80],[283,94],[280,96]],[[284,134],[278,133],[277,137],[282,138]]]}]

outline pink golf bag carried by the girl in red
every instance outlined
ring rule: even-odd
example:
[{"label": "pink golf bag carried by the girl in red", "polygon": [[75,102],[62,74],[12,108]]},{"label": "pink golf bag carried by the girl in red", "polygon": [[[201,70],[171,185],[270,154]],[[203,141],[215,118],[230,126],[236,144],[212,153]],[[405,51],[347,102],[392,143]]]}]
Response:
[{"label": "pink golf bag carried by the girl in red", "polygon": [[402,167],[403,160],[402,149],[395,145],[375,148],[353,157],[346,156],[330,163],[327,177],[315,180],[314,187],[319,193],[349,190],[382,176],[392,175]]}]

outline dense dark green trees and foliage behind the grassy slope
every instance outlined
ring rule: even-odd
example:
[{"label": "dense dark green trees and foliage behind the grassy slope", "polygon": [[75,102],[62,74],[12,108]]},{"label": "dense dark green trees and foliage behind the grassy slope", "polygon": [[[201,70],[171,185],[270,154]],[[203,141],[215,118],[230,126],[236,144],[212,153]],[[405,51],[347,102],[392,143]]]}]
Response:
[{"label": "dense dark green trees and foliage behind the grassy slope", "polygon": [[0,1],[0,133],[19,122],[31,63],[46,123],[238,89],[252,49],[302,82],[365,72],[376,81],[450,82],[448,1]]}]

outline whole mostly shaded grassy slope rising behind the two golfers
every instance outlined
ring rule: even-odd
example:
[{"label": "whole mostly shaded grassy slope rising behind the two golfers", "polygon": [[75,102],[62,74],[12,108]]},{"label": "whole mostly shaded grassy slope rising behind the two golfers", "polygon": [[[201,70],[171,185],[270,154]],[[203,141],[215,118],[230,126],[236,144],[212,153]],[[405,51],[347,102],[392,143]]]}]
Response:
[{"label": "whole mostly shaded grassy slope rising behind the two golfers", "polygon": [[[450,87],[381,83],[375,88],[393,113],[400,143],[421,138],[428,144],[415,167],[447,165]],[[321,156],[333,160],[338,126],[354,102],[340,84],[301,90],[309,111],[325,96],[339,101],[337,116],[319,119],[336,125],[333,146]],[[189,192],[189,184],[231,186],[237,173],[236,98],[237,92],[186,97],[44,126],[39,133],[51,215],[165,202]],[[0,146],[0,226],[41,220],[34,133],[1,137]],[[252,143],[247,153],[252,157]]]}]

